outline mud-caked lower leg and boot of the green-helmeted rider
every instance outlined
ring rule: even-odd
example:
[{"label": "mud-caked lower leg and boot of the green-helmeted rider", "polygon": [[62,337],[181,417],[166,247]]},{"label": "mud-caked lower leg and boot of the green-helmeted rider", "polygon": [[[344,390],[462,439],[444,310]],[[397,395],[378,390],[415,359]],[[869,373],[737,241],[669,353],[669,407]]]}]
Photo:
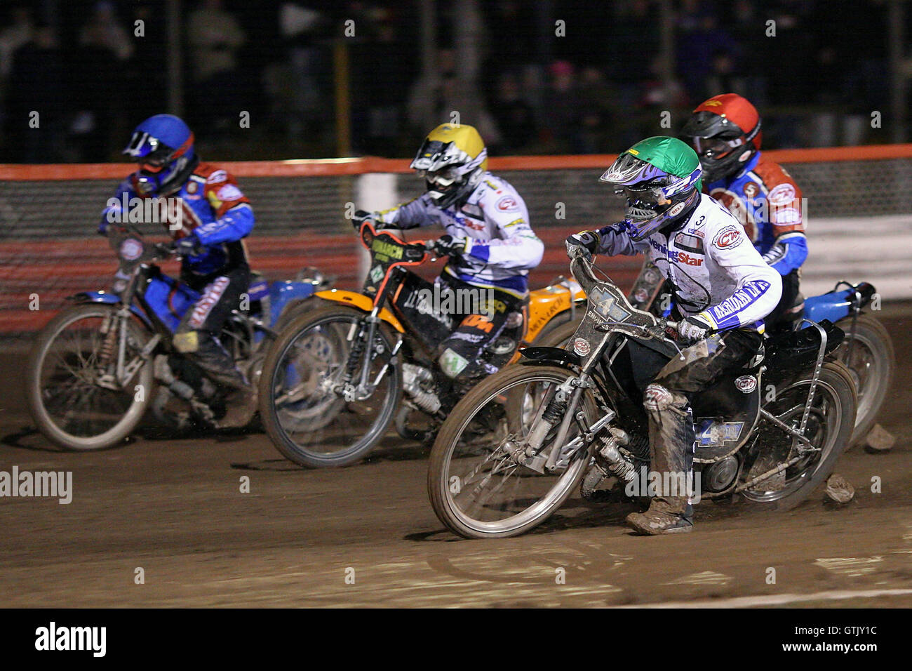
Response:
[{"label": "mud-caked lower leg and boot of the green-helmeted rider", "polygon": [[689,489],[694,446],[688,400],[653,383],[646,389],[643,406],[649,417],[651,468],[658,492],[646,512],[627,515],[627,525],[640,535],[687,533],[693,529]]}]

